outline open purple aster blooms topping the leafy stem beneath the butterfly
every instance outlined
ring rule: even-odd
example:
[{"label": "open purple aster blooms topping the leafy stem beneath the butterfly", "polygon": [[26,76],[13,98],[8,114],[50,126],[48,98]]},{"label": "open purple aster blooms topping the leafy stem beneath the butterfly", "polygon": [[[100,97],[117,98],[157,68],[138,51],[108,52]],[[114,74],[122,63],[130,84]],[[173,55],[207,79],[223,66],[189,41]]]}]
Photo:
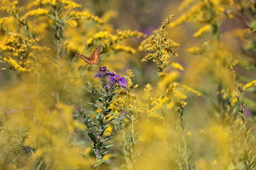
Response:
[{"label": "open purple aster blooms topping the leafy stem beneath the butterfly", "polygon": [[116,83],[121,87],[126,87],[127,85],[127,81],[124,77],[121,77],[118,75],[116,75],[116,73],[114,72],[109,72],[107,71],[107,67],[100,67],[99,69],[100,71],[97,71],[97,74],[94,75],[94,78],[101,78],[102,82],[106,81],[106,78],[109,79],[109,83],[108,85],[112,86],[112,85],[116,85]]}]

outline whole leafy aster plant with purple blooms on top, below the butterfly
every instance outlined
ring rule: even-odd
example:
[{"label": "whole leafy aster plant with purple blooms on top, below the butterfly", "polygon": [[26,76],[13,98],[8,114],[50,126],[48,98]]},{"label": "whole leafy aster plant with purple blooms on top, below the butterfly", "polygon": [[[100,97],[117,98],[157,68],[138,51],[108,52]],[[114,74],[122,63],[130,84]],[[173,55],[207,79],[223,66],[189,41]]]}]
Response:
[{"label": "whole leafy aster plant with purple blooms on top, below the butterfly", "polygon": [[[116,89],[127,86],[127,81],[124,77],[119,76],[114,72],[109,72],[107,67],[100,67],[94,78],[100,79],[101,87],[94,86],[89,81],[83,86],[88,92],[91,93],[91,99],[93,103],[88,103],[97,107],[96,111],[87,110],[81,106],[76,108],[76,115],[83,118],[83,123],[88,130],[88,137],[93,142],[92,155],[95,157],[95,161],[92,162],[93,169],[99,166],[103,156],[108,151],[108,147],[104,147],[104,143],[114,137],[114,134],[120,129],[121,124],[124,123],[124,119],[127,116],[125,110],[118,111],[119,113],[113,112],[111,105],[113,104],[114,97],[118,94]],[[113,113],[112,113],[113,112]],[[96,116],[92,116],[96,115]],[[107,130],[106,130],[107,129]],[[106,131],[109,133],[106,134]]]}]

